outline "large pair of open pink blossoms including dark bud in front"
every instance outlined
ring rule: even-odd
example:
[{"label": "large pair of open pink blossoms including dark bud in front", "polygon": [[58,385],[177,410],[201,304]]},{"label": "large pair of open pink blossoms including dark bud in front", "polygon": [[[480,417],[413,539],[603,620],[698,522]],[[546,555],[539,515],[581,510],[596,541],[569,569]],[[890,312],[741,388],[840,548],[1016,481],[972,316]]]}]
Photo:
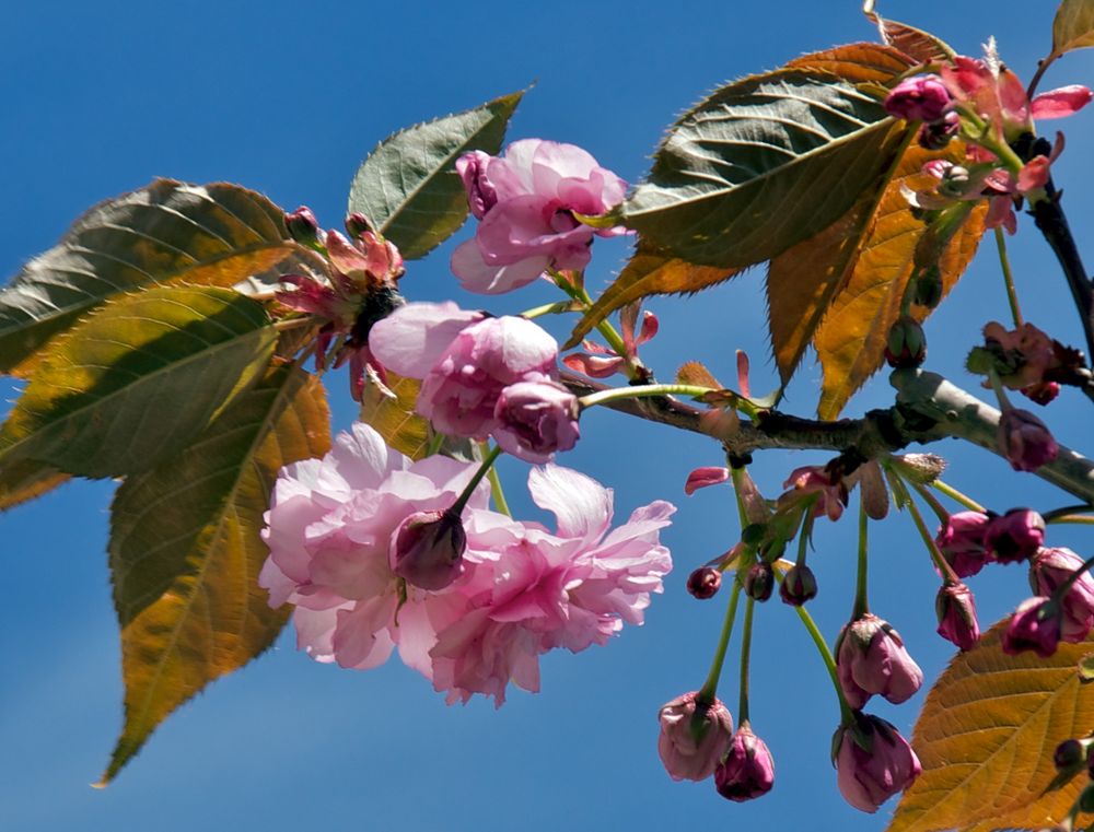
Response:
[{"label": "large pair of open pink blossoms including dark bud in front", "polygon": [[442,456],[411,462],[364,424],[323,459],[282,469],[259,583],[271,606],[295,605],[300,648],[364,669],[397,647],[450,702],[481,693],[500,705],[510,681],[539,689],[542,654],[642,623],[672,569],[659,542],[671,504],[613,529],[612,492],[548,465],[528,488],[555,514],[554,532],[490,511],[484,485],[453,518],[474,472]]}]

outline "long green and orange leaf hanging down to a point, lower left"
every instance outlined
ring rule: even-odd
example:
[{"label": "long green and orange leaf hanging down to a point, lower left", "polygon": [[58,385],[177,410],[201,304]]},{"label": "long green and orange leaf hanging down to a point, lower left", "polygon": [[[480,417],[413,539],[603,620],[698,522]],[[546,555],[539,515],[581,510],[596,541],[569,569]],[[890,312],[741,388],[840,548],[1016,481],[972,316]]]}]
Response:
[{"label": "long green and orange leaf hanging down to a point, lower left", "polygon": [[126,719],[100,785],[176,707],[274,642],[290,608],[270,609],[257,584],[263,513],[278,469],[329,446],[323,386],[278,366],[182,454],[118,489],[109,555]]}]

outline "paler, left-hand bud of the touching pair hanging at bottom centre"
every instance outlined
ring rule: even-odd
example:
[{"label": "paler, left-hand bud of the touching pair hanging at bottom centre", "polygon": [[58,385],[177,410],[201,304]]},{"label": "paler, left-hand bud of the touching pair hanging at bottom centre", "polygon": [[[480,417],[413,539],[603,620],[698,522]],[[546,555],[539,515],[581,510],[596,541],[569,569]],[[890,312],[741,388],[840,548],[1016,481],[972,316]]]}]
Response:
[{"label": "paler, left-hand bud of the touching pair hanging at bottom centre", "polygon": [[661,707],[657,753],[673,780],[706,780],[733,741],[733,717],[720,700],[696,703],[698,691],[685,693]]}]

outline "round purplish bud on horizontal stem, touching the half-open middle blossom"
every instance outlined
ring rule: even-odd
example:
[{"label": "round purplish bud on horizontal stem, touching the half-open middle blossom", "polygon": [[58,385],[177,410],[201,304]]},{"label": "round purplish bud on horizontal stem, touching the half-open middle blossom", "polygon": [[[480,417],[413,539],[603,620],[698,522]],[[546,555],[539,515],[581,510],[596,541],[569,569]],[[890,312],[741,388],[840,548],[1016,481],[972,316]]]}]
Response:
[{"label": "round purplish bud on horizontal stem, touching the half-open middle blossom", "polygon": [[578,397],[556,382],[519,382],[502,389],[493,409],[493,437],[526,462],[546,462],[581,437]]}]

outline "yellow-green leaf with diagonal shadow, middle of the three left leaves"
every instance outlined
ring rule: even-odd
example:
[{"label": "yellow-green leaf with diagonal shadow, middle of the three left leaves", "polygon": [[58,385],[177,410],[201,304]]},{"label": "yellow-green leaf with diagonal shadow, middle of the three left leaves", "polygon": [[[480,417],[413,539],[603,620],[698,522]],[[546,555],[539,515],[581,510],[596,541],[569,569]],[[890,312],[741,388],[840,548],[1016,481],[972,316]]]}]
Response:
[{"label": "yellow-green leaf with diagonal shadow, middle of the three left leaves", "polygon": [[0,480],[35,459],[117,477],[185,447],[269,363],[261,304],[161,286],[109,301],[49,350],[0,429]]}]

